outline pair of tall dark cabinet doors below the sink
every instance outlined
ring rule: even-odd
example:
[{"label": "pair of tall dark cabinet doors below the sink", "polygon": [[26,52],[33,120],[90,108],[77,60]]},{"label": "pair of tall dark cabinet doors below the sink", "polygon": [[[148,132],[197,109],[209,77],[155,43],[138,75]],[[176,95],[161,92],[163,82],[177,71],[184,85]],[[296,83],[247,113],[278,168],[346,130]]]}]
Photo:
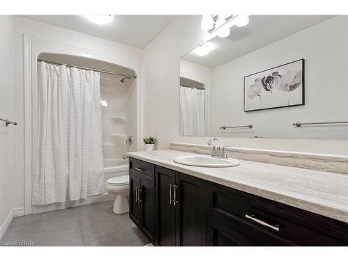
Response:
[{"label": "pair of tall dark cabinet doors below the sink", "polygon": [[156,166],[157,246],[205,245],[204,181]]}]

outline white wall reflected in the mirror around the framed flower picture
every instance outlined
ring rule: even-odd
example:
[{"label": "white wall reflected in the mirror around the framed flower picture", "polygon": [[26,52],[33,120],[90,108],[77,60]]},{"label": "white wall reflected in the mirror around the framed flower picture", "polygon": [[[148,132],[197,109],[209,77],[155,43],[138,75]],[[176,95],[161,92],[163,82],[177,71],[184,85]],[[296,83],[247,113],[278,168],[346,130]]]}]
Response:
[{"label": "white wall reflected in the mirror around the framed flower picture", "polygon": [[[347,125],[292,127],[297,121],[348,120],[347,22],[345,16],[333,17],[212,69],[211,135],[347,140]],[[304,106],[244,112],[244,76],[300,58],[305,59]],[[253,129],[219,129],[248,124]]]}]

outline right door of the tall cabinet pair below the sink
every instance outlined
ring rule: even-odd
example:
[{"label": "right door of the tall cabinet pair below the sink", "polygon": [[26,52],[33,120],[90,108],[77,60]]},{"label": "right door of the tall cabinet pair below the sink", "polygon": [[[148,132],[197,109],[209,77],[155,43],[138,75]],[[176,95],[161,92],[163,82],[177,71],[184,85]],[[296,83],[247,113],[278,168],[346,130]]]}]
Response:
[{"label": "right door of the tall cabinet pair below the sink", "polygon": [[205,181],[176,173],[176,245],[205,246]]}]

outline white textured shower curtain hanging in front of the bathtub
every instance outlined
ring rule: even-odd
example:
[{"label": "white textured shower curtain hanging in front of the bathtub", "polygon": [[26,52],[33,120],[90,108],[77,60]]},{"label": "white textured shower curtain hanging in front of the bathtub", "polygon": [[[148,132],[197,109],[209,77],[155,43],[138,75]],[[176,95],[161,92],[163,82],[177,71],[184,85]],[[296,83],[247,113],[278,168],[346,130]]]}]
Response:
[{"label": "white textured shower curtain hanging in front of the bathtub", "polygon": [[38,102],[33,205],[103,193],[100,73],[40,62]]}]

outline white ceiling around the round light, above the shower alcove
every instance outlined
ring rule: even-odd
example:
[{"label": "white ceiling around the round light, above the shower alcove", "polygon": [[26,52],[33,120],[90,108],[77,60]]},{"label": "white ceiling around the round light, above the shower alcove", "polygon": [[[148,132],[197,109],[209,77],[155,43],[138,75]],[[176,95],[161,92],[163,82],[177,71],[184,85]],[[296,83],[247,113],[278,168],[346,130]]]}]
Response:
[{"label": "white ceiling around the round light, above the shower alcove", "polygon": [[98,25],[82,15],[22,16],[141,49],[176,17],[175,15],[116,15],[110,24]]}]

